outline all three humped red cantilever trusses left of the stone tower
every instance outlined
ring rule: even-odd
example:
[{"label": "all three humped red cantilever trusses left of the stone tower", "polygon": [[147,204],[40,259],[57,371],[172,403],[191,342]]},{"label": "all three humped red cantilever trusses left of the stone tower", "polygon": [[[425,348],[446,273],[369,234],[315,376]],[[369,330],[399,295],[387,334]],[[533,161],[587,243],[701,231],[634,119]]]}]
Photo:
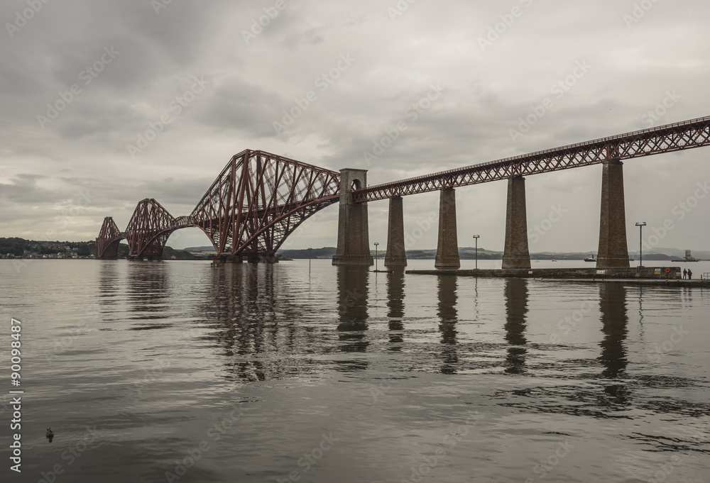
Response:
[{"label": "all three humped red cantilever trusses left of the stone tower", "polygon": [[128,241],[131,257],[160,257],[170,233],[196,226],[219,255],[274,255],[306,218],[339,199],[340,174],[263,151],[229,160],[189,216],[173,217],[155,199],[143,199],[126,231],[104,218],[96,255],[116,257]]}]

